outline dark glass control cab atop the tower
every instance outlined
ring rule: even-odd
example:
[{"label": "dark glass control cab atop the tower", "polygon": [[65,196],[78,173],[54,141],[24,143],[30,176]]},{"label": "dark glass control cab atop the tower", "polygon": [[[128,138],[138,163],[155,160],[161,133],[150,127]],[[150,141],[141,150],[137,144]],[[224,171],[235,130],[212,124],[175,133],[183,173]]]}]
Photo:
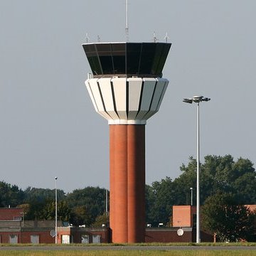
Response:
[{"label": "dark glass control cab atop the tower", "polygon": [[82,47],[95,78],[161,78],[171,43],[85,43]]}]

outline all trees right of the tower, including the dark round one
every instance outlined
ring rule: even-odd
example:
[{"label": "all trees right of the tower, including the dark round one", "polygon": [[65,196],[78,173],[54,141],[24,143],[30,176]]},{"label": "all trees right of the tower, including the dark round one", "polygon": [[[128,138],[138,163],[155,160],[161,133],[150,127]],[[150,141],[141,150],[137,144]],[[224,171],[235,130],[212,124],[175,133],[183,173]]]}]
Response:
[{"label": "all trees right of the tower, including the dark round one", "polygon": [[[182,174],[146,186],[146,220],[152,225],[171,224],[172,206],[190,205],[196,191],[196,159],[182,164]],[[234,161],[230,155],[205,156],[200,165],[201,224],[221,241],[256,241],[256,172],[249,159]],[[196,204],[196,193],[193,193]]]}]

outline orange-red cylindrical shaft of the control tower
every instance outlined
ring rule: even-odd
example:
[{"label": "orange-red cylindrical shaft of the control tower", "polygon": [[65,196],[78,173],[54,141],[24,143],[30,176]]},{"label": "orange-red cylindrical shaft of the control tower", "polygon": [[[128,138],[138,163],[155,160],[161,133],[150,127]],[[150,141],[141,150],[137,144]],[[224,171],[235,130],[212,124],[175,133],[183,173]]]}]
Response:
[{"label": "orange-red cylindrical shaft of the control tower", "polygon": [[112,242],[144,242],[145,126],[110,125]]}]

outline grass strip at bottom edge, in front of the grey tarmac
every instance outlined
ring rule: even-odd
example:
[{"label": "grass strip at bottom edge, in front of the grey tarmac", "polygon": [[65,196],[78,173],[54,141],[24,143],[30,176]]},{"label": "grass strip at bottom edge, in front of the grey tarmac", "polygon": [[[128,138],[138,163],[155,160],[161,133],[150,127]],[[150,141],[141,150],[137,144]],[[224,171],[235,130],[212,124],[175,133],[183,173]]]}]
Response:
[{"label": "grass strip at bottom edge, in front of the grey tarmac", "polygon": [[174,251],[139,251],[139,250],[122,250],[122,251],[102,251],[95,250],[90,252],[82,251],[1,251],[0,255],[3,256],[137,256],[137,255],[171,255],[171,256],[256,256],[256,250],[218,250],[218,251],[208,251],[208,250],[174,250]]}]

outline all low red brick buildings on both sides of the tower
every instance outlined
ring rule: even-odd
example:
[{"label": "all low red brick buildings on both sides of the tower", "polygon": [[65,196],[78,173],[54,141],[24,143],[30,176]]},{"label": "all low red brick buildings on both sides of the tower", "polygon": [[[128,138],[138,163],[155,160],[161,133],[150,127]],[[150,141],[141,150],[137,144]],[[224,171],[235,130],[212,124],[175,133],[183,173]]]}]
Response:
[{"label": "all low red brick buildings on both sides of the tower", "polygon": [[[195,242],[191,206],[174,206],[173,227],[146,228],[145,242]],[[178,230],[182,230],[178,233]],[[21,208],[0,208],[1,243],[55,243],[54,220],[24,220]],[[112,242],[110,228],[64,227],[58,221],[58,243],[107,243]],[[213,241],[213,237],[201,233],[201,241]]]}]

